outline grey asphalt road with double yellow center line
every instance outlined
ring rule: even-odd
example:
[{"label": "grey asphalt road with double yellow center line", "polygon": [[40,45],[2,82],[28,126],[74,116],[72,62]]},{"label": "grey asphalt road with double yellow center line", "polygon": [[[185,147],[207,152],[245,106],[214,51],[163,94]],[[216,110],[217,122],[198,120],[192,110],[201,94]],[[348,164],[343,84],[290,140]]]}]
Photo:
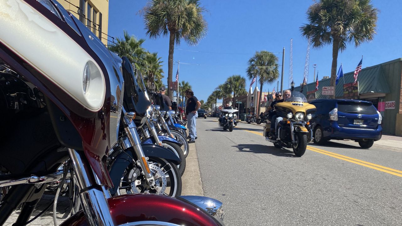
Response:
[{"label": "grey asphalt road with double yellow center line", "polygon": [[402,149],[337,141],[298,158],[262,129],[197,119],[204,195],[224,203],[226,225],[402,225]]}]

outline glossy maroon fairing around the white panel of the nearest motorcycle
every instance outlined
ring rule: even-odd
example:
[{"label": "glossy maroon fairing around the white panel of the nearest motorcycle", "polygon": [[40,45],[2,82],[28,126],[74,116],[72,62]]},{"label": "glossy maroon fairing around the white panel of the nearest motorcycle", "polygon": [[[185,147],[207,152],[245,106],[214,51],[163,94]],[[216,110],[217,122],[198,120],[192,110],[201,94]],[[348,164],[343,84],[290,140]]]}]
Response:
[{"label": "glossy maroon fairing around the white panel of the nearest motorcycle", "polygon": [[25,62],[21,57],[2,43],[0,43],[0,58],[6,62],[6,64],[10,65],[18,74],[35,85],[44,95],[46,95],[46,97],[63,111],[81,136],[82,150],[84,150],[94,173],[96,173],[101,183],[108,187],[113,187],[113,183],[111,182],[105,165],[106,157],[110,149],[109,120],[111,105],[111,92],[107,70],[97,54],[88,46],[82,35],[76,33],[76,31],[74,31],[69,25],[60,20],[39,2],[29,0],[26,0],[26,2],[52,21],[52,23],[64,31],[66,35],[70,36],[71,39],[78,43],[78,45],[80,45],[80,47],[82,47],[82,49],[84,49],[98,64],[105,75],[106,92],[103,107],[97,112],[85,109],[64,92],[64,90],[43,76],[43,74],[33,66],[29,65],[29,63]]}]

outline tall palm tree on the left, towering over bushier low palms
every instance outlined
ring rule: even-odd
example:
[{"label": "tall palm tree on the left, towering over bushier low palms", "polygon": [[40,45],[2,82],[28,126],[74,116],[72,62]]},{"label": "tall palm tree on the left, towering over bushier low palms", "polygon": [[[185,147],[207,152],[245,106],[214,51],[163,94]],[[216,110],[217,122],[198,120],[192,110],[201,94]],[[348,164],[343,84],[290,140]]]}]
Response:
[{"label": "tall palm tree on the left, towering over bushier low palms", "polygon": [[[180,45],[184,39],[189,45],[196,45],[207,33],[205,11],[200,0],[151,0],[144,8],[146,33],[151,38],[169,35],[168,82],[173,74],[174,43]],[[168,96],[173,92],[168,88]]]}]

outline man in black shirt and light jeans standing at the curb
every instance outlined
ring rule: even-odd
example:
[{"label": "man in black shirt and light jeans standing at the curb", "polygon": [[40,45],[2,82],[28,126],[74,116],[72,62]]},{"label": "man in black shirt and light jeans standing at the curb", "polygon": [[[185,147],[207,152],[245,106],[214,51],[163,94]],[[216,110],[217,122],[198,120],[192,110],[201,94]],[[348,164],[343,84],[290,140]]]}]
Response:
[{"label": "man in black shirt and light jeans standing at the curb", "polygon": [[198,101],[197,97],[194,96],[194,92],[191,89],[185,91],[187,97],[187,128],[189,128],[189,143],[195,143],[197,139],[197,128],[195,127],[195,121],[197,120],[198,113],[197,110],[201,107],[201,103]]}]

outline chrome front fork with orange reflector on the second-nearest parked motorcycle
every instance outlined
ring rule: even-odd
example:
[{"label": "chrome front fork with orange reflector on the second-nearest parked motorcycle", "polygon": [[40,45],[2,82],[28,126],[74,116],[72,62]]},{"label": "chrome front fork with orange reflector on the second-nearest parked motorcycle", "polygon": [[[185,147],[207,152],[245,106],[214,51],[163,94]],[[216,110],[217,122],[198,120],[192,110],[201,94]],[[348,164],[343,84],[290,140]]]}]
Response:
[{"label": "chrome front fork with orange reflector on the second-nearest parked motorcycle", "polygon": [[145,178],[147,179],[148,185],[152,186],[155,185],[154,177],[151,174],[147,158],[144,155],[144,151],[142,150],[141,140],[137,133],[137,127],[135,126],[134,121],[132,120],[135,116],[135,113],[127,112],[124,115],[124,123],[127,127],[124,128],[128,142],[125,142],[125,148],[129,148],[130,146],[134,149],[134,154],[137,156],[136,164],[141,166],[142,172],[144,173]]}]

